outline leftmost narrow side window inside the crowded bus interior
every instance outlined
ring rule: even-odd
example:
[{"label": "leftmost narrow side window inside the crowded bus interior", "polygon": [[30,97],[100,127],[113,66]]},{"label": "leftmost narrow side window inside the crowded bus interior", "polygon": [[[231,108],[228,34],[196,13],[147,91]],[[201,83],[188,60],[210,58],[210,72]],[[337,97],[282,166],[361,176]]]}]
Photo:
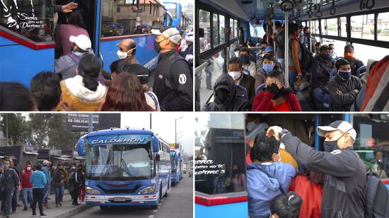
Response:
[{"label": "leftmost narrow side window inside the crowded bus interior", "polygon": [[211,13],[199,9],[199,28],[204,29],[204,38],[199,38],[200,53],[211,48]]}]

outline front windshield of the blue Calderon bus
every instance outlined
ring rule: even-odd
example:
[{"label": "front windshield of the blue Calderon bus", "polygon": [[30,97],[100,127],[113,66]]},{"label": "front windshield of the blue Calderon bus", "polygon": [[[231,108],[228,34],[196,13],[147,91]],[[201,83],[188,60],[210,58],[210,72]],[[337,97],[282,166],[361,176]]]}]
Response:
[{"label": "front windshield of the blue Calderon bus", "polygon": [[86,178],[91,180],[141,180],[153,175],[151,144],[88,146]]}]

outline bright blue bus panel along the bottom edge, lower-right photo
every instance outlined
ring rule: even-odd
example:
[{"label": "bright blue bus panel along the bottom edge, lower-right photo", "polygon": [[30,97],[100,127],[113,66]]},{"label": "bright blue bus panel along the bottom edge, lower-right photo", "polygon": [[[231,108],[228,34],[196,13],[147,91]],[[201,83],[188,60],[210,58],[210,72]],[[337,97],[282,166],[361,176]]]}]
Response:
[{"label": "bright blue bus panel along the bottom edge, lower-right photo", "polygon": [[228,205],[195,206],[196,217],[248,217],[248,202],[238,202]]}]

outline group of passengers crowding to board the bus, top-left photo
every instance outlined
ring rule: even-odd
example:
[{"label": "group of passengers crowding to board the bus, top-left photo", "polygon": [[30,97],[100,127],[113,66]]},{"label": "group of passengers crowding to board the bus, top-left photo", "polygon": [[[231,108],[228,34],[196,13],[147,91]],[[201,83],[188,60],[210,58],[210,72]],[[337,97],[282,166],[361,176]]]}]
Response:
[{"label": "group of passengers crowding to board the bus, top-left photo", "polygon": [[182,50],[178,50],[181,36],[176,28],[151,33],[156,35],[154,49],[160,55],[153,73],[137,61],[132,39],[118,44],[118,59],[108,73],[93,53],[81,11],[66,13],[66,23],[56,29],[59,58],[54,61],[54,74],[36,74],[30,90],[18,83],[0,83],[0,110],[192,111],[193,33],[185,33]]}]

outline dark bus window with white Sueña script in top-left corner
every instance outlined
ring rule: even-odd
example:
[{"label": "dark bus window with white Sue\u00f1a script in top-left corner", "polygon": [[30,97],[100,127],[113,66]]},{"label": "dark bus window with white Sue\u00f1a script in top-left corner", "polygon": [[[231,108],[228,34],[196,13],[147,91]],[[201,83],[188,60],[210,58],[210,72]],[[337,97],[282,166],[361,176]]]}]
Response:
[{"label": "dark bus window with white Sue\u00f1a script in top-left corner", "polygon": [[35,42],[50,42],[53,37],[52,1],[2,0],[0,25]]}]

